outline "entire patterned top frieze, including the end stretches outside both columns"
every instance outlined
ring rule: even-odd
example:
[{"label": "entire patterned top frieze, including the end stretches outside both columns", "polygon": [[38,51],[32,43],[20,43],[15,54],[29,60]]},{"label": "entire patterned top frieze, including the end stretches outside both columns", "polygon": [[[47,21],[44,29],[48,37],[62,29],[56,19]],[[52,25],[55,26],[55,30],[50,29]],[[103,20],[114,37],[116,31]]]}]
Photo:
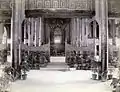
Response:
[{"label": "entire patterned top frieze, including the end stretches outside both columns", "polygon": [[[95,10],[95,0],[25,0],[26,10],[33,9],[73,9]],[[12,0],[0,0],[0,10],[10,10]],[[108,0],[110,13],[120,13],[120,0]]]}]

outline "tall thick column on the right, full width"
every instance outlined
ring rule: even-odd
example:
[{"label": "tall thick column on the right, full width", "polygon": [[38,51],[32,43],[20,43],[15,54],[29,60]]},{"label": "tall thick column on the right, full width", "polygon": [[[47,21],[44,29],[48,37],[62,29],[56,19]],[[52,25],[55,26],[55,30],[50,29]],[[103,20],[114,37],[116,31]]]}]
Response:
[{"label": "tall thick column on the right, full width", "polygon": [[[95,0],[96,20],[100,25],[100,58],[102,62],[102,72],[108,68],[108,0]],[[104,76],[106,79],[107,77]]]}]

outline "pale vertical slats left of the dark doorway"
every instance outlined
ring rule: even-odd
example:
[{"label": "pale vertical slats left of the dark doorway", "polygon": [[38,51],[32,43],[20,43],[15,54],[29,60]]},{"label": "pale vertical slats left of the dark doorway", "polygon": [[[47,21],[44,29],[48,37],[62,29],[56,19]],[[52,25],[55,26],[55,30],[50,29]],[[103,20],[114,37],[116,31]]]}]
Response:
[{"label": "pale vertical slats left of the dark doorway", "polygon": [[24,44],[41,46],[42,18],[27,18],[26,20],[28,23],[24,24]]}]

